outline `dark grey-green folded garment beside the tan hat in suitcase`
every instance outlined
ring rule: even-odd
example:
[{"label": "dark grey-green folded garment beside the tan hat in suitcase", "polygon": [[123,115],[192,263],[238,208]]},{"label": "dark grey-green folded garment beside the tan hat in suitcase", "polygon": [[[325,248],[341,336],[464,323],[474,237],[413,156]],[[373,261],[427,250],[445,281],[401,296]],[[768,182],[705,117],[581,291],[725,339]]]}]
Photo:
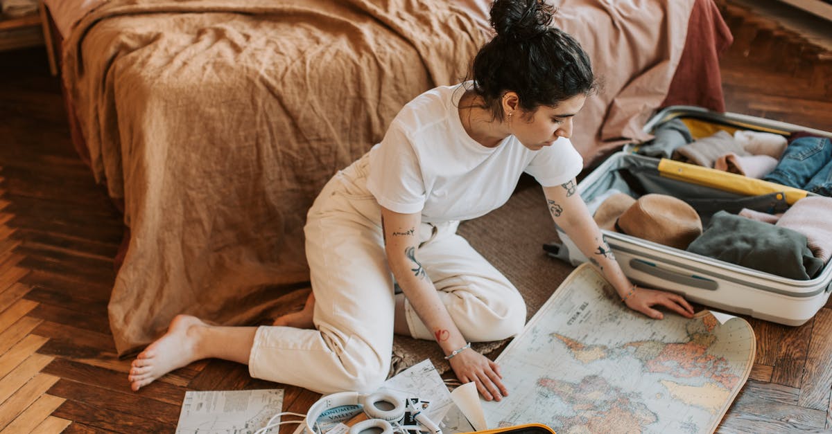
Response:
[{"label": "dark grey-green folded garment beside the tan hat in suitcase", "polygon": [[726,211],[711,218],[687,251],[789,279],[812,279],[824,265],[804,234]]}]

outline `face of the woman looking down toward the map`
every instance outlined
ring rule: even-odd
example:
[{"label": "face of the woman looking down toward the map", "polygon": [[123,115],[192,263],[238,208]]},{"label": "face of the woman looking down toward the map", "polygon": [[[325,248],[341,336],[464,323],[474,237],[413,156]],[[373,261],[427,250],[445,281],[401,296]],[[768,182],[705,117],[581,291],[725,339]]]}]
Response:
[{"label": "face of the woman looking down toward the map", "polygon": [[587,96],[576,95],[557,106],[539,106],[537,111],[514,113],[509,129],[530,150],[552,145],[560,137],[572,136],[572,117],[581,111]]}]

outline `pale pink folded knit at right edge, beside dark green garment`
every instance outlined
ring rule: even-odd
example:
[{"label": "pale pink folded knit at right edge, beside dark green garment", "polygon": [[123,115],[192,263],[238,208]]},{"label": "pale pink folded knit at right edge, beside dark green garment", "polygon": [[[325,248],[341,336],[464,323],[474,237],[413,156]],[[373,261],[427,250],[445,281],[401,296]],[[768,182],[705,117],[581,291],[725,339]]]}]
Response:
[{"label": "pale pink folded knit at right edge, beside dark green garment", "polygon": [[806,236],[809,249],[827,263],[832,257],[832,198],[810,196],[795,202],[777,221],[781,228],[793,229]]}]

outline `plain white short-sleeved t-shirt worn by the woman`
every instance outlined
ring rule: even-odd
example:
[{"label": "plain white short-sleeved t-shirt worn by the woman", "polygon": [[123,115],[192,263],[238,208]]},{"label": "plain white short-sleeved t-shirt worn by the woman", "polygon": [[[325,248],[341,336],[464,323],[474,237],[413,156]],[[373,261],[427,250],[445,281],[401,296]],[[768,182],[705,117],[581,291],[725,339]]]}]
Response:
[{"label": "plain white short-sleeved t-shirt worn by the woman", "polygon": [[474,141],[459,120],[464,91],[462,84],[440,86],[417,96],[369,151],[367,187],[379,205],[421,212],[431,223],[474,219],[505,204],[524,171],[553,186],[582,170],[581,155],[562,137],[541,150],[514,136],[493,148]]}]

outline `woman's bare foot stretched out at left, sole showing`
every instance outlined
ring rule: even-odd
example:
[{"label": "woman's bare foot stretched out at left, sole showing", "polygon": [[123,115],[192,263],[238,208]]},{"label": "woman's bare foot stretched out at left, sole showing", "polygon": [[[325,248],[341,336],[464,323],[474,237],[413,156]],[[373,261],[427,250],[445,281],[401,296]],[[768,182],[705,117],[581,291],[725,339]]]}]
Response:
[{"label": "woman's bare foot stretched out at left, sole showing", "polygon": [[201,357],[196,352],[199,328],[209,327],[200,318],[190,315],[176,315],[167,333],[151,343],[131,363],[130,388],[134,391],[156,380],[174,369],[186,366]]}]

